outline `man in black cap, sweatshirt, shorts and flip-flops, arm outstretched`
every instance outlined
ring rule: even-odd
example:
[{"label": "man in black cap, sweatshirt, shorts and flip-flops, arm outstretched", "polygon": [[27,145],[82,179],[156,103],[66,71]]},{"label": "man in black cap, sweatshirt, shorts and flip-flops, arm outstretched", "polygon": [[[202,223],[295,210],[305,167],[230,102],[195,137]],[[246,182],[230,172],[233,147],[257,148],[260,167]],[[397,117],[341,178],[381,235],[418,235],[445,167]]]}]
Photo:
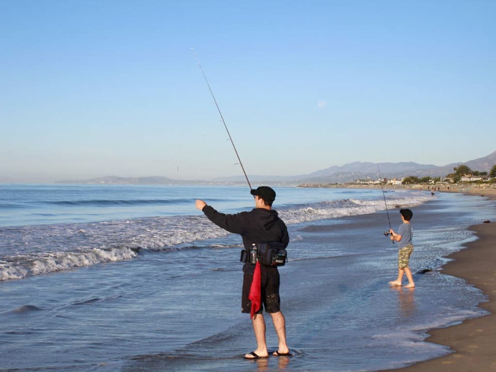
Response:
[{"label": "man in black cap, sweatshirt, shorts and flip-flops, arm outstretched", "polygon": [[[255,198],[255,208],[249,212],[237,214],[224,214],[217,212],[203,200],[196,200],[195,207],[208,217],[217,226],[233,234],[240,234],[243,239],[245,250],[250,256],[254,243],[280,242],[284,247],[289,244],[288,229],[277,214],[272,209],[272,202],[276,198],[275,191],[268,186],[260,186],[251,189],[250,193]],[[279,338],[279,347],[272,353],[274,356],[291,356],[286,343],[286,320],[280,310],[279,297],[279,271],[277,266],[259,265],[261,278],[261,303],[263,308],[272,317],[272,323]],[[241,312],[250,313],[252,303],[249,300],[251,283],[253,281],[255,264],[245,262],[243,265],[243,289],[241,299]],[[253,331],[255,333],[257,348],[253,352],[246,354],[246,359],[259,359],[269,356],[265,341],[265,320],[262,314],[262,306],[258,310],[253,310]]]}]

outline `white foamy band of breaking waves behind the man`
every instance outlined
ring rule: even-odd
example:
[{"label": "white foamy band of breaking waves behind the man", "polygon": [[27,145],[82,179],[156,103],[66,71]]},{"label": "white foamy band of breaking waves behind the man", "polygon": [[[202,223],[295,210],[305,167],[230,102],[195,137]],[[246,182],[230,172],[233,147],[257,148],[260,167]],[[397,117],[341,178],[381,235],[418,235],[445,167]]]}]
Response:
[{"label": "white foamy band of breaking waves behind the man", "polygon": [[[388,195],[389,196],[389,195]],[[429,200],[422,193],[391,195],[388,208]],[[391,197],[389,196],[389,197]],[[385,209],[383,199],[342,199],[286,206],[279,210],[287,225],[339,218]],[[141,250],[167,250],[229,233],[205,216],[151,217],[72,225],[35,225],[1,231],[0,280],[68,270],[136,257]]]}]

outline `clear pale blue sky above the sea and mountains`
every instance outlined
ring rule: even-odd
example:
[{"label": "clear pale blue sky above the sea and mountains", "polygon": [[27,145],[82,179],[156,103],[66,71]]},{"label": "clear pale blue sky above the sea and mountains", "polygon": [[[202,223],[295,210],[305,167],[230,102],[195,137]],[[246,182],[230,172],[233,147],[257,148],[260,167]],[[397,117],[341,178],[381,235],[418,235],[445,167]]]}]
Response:
[{"label": "clear pale blue sky above the sea and mountains", "polygon": [[[493,0],[0,0],[0,183],[496,150]],[[194,48],[191,50],[191,48]]]}]

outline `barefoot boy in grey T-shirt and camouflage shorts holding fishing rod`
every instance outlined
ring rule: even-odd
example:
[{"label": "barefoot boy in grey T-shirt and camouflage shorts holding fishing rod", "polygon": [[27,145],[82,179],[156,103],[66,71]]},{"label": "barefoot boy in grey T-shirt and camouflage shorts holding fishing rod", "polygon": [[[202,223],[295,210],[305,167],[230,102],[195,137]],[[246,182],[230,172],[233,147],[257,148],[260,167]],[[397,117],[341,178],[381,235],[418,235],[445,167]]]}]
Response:
[{"label": "barefoot boy in grey T-shirt and camouflage shorts holding fishing rod", "polygon": [[415,287],[415,283],[413,282],[412,271],[410,271],[410,267],[408,266],[410,255],[413,252],[413,232],[412,224],[410,223],[413,212],[410,209],[400,209],[400,215],[403,223],[398,228],[398,233],[395,233],[393,229],[389,229],[391,240],[398,242],[398,278],[389,282],[389,284],[400,286],[403,281],[403,274],[405,274],[408,279],[408,284],[405,288],[413,288]]}]

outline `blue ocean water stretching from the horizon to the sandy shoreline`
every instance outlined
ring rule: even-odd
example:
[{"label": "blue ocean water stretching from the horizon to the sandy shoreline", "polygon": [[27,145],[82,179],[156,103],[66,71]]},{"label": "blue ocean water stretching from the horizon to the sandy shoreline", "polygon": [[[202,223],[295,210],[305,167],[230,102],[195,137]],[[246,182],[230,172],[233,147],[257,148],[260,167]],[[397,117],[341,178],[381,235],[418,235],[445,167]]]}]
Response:
[{"label": "blue ocean water stretching from the horizon to the sandy shoreline", "polygon": [[[194,201],[250,210],[248,187],[0,185],[0,371],[375,371],[450,353],[426,330],[484,314],[486,297],[441,265],[495,219],[485,198],[274,188],[294,356],[246,361],[241,238]],[[414,212],[415,289],[388,285],[397,250],[383,232],[399,207]]]}]

